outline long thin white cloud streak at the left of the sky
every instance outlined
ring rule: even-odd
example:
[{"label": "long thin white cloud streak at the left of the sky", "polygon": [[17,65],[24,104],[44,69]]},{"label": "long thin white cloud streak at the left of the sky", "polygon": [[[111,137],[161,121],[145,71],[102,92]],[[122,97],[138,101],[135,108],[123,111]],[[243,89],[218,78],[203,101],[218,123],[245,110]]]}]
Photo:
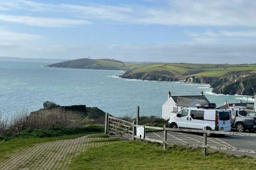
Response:
[{"label": "long thin white cloud streak at the left of the sky", "polygon": [[23,23],[29,26],[41,26],[41,27],[69,27],[89,24],[89,21],[85,20],[70,20],[66,18],[46,18],[46,17],[30,17],[30,16],[18,16],[18,15],[6,15],[0,14],[0,20],[12,23]]}]

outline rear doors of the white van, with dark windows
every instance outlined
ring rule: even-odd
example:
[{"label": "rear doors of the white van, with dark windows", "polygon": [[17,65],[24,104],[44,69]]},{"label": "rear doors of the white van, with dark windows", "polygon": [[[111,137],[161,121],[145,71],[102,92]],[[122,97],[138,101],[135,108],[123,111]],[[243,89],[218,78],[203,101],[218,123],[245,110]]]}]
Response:
[{"label": "rear doors of the white van, with dark windows", "polygon": [[230,131],[230,111],[218,111],[218,130],[219,131]]}]

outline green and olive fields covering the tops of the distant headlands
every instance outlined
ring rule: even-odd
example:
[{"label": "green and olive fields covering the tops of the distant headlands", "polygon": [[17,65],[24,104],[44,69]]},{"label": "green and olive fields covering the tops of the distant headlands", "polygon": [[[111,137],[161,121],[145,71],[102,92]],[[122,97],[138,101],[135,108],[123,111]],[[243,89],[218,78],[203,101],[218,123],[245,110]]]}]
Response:
[{"label": "green and olive fields covering the tops of the distant headlands", "polygon": [[60,62],[49,67],[90,68],[106,70],[125,70],[129,74],[151,74],[178,78],[182,76],[221,77],[234,71],[256,71],[255,64],[193,64],[193,63],[151,63],[122,62],[115,59],[75,59]]}]

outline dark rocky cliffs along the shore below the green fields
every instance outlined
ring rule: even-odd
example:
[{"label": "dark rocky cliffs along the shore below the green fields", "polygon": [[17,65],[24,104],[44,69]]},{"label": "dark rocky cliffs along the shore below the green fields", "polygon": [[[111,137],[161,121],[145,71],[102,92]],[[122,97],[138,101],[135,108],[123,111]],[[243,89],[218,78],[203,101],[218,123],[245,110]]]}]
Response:
[{"label": "dark rocky cliffs along the shore below the green fields", "polygon": [[141,80],[154,80],[154,81],[180,81],[191,83],[207,83],[213,88],[212,92],[216,94],[241,94],[251,95],[256,93],[256,73],[247,71],[233,71],[225,74],[223,77],[203,77],[203,76],[183,76],[178,77],[167,72],[155,73],[133,73],[127,71],[123,74],[122,78],[126,79],[141,79]]}]

